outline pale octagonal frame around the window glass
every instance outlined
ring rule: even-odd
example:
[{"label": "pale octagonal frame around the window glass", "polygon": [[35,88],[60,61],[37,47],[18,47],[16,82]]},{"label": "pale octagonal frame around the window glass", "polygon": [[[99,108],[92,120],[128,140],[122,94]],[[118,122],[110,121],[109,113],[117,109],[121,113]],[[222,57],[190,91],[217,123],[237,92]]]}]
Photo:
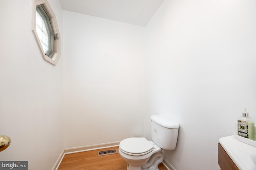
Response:
[{"label": "pale octagonal frame around the window glass", "polygon": [[[42,48],[40,39],[38,37],[38,34],[36,32],[36,7],[37,6],[42,6],[44,11],[46,12],[47,16],[50,19],[50,25],[52,26],[52,31],[53,31],[53,51],[51,51],[51,54],[47,56],[44,53],[44,49]],[[36,41],[38,43],[39,49],[41,51],[42,57],[50,62],[53,65],[56,65],[59,58],[60,58],[60,32],[58,29],[58,24],[56,20],[56,16],[54,15],[54,12],[52,11],[52,8],[50,7],[49,3],[47,0],[34,0],[34,4],[32,5],[32,31],[36,37]]]}]

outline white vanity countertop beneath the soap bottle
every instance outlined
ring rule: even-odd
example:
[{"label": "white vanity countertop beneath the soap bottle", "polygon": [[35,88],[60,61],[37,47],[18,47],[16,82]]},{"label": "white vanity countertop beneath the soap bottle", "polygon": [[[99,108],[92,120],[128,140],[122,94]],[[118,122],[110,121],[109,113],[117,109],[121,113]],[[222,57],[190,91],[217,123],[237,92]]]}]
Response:
[{"label": "white vanity countertop beneath the soap bottle", "polygon": [[238,141],[235,135],[222,137],[219,142],[239,170],[256,170],[256,147]]}]

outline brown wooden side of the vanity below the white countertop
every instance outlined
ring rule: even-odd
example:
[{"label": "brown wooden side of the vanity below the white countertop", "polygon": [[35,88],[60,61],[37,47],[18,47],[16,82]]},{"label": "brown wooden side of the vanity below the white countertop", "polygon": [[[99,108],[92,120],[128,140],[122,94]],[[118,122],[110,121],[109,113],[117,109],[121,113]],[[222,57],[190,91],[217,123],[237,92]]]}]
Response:
[{"label": "brown wooden side of the vanity below the white countertop", "polygon": [[220,143],[218,146],[218,164],[221,170],[239,170]]}]

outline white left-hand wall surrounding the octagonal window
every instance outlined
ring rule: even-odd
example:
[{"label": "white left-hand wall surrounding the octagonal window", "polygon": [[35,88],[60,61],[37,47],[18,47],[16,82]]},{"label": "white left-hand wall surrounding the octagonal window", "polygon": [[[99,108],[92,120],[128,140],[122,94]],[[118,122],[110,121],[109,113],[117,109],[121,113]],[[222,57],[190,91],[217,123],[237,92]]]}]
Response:
[{"label": "white left-hand wall surrounding the octagonal window", "polygon": [[[62,33],[62,7],[49,0]],[[0,135],[11,138],[0,160],[50,170],[63,149],[62,67],[44,61],[32,32],[32,0],[0,5]]]}]

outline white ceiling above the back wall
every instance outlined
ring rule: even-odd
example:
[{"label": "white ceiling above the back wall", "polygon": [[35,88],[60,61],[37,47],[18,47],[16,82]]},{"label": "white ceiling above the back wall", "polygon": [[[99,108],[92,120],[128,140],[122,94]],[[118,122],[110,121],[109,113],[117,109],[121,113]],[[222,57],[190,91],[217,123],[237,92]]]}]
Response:
[{"label": "white ceiling above the back wall", "polygon": [[145,26],[164,0],[60,0],[67,11]]}]

